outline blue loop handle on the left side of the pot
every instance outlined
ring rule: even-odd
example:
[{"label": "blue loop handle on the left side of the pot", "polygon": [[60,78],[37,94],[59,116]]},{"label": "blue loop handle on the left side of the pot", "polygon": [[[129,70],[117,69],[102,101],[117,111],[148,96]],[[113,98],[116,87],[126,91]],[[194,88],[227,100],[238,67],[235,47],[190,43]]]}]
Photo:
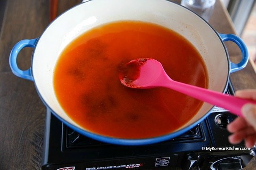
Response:
[{"label": "blue loop handle on the left side of the pot", "polygon": [[11,50],[10,57],[9,57],[9,64],[10,64],[11,71],[17,77],[20,77],[22,79],[31,80],[31,81],[34,80],[33,76],[32,76],[32,73],[31,73],[31,67],[27,70],[19,69],[19,67],[17,65],[17,56],[18,56],[20,50],[25,48],[25,47],[35,48],[35,44],[37,43],[37,39],[38,38],[35,38],[35,39],[32,39],[32,40],[21,40],[17,44],[15,44],[15,46]]}]

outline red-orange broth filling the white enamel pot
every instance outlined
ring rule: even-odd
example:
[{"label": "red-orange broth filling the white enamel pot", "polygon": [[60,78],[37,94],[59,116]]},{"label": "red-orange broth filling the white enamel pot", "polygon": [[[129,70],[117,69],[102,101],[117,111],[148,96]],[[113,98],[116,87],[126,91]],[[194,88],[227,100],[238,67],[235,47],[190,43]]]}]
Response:
[{"label": "red-orange broth filling the white enamel pot", "polygon": [[156,137],[186,124],[201,101],[166,88],[121,84],[120,69],[135,58],[154,58],[173,80],[208,87],[206,66],[186,38],[155,24],[113,22],[87,31],[63,50],[54,70],[59,104],[83,128],[110,137]]}]

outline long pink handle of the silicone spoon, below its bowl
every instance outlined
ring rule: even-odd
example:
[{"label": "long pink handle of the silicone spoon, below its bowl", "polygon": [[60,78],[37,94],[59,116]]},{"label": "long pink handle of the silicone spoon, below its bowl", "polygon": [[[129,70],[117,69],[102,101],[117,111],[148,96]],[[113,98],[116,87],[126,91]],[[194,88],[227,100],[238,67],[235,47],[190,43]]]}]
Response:
[{"label": "long pink handle of the silicone spoon, below its bowl", "polygon": [[238,115],[240,117],[243,117],[241,113],[241,108],[244,104],[256,104],[256,101],[241,99],[217,91],[184,84],[182,82],[174,81],[170,78],[168,79],[168,81],[162,82],[161,86],[179,91],[180,93],[184,93],[186,95],[194,97],[195,99],[208,102],[215,106],[219,106],[221,108],[229,110],[231,113],[234,113],[235,115]]}]

